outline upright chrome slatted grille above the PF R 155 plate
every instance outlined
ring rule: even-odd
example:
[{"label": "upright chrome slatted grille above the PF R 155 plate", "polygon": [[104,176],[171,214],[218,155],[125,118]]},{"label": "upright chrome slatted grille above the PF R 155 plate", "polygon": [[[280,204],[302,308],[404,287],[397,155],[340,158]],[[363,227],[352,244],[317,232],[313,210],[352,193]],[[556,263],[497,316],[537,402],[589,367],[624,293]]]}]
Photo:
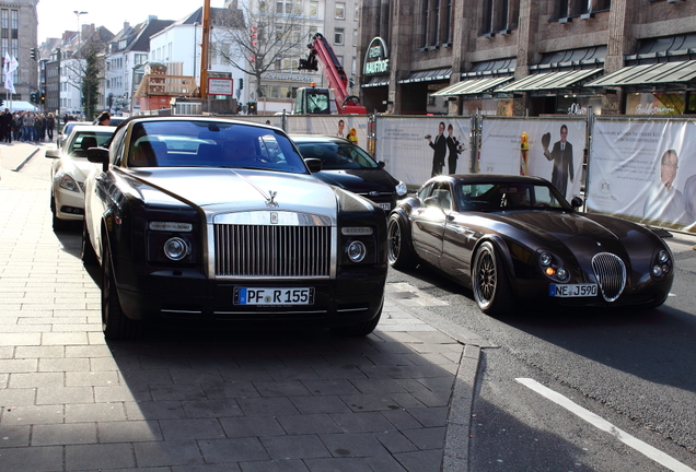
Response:
[{"label": "upright chrome slatted grille above the PF R 155 plate", "polygon": [[217,276],[329,275],[329,226],[216,224],[214,238]]}]

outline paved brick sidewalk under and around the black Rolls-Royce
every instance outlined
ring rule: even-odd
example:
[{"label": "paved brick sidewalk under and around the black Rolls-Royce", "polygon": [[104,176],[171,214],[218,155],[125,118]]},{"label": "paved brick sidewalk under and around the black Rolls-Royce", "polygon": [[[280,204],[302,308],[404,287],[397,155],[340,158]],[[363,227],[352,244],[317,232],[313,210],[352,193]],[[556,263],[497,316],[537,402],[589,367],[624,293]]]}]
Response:
[{"label": "paved brick sidewalk under and around the black Rolls-Royce", "polygon": [[51,229],[50,145],[0,144],[0,470],[467,470],[485,341],[407,284],[364,339],[105,342],[81,235]]}]

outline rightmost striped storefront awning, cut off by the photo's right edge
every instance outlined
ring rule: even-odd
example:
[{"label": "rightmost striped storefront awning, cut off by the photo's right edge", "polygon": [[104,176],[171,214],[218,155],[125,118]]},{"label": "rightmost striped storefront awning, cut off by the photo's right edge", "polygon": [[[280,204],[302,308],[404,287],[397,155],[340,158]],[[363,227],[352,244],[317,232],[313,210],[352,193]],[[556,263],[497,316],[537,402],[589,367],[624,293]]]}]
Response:
[{"label": "rightmost striped storefront awning, cut off by the photo's right edge", "polygon": [[585,86],[654,85],[696,79],[696,60],[625,67]]}]

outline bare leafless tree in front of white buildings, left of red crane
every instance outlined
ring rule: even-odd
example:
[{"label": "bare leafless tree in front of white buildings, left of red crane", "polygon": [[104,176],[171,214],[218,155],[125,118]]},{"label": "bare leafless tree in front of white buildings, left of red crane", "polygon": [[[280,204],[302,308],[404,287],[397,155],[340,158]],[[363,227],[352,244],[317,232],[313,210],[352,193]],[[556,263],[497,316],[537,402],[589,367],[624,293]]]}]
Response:
[{"label": "bare leafless tree in front of white buildings, left of red crane", "polygon": [[256,79],[263,96],[263,74],[268,70],[297,69],[306,52],[306,26],[298,0],[234,1],[217,9],[212,19],[211,49],[235,69]]}]

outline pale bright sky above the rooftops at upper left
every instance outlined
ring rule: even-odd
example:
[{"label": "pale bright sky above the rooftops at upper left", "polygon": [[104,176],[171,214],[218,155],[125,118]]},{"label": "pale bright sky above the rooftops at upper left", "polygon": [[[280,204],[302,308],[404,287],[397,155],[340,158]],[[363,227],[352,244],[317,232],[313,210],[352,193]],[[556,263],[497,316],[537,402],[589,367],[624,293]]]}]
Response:
[{"label": "pale bright sky above the rooftops at upper left", "polygon": [[[211,8],[221,8],[224,0],[210,0]],[[38,15],[37,42],[42,44],[47,37],[60,37],[66,31],[78,30],[78,12],[80,25],[94,24],[104,26],[113,34],[118,34],[124,22],[137,25],[156,15],[160,20],[181,20],[204,5],[204,0],[39,0],[36,5]]]}]

